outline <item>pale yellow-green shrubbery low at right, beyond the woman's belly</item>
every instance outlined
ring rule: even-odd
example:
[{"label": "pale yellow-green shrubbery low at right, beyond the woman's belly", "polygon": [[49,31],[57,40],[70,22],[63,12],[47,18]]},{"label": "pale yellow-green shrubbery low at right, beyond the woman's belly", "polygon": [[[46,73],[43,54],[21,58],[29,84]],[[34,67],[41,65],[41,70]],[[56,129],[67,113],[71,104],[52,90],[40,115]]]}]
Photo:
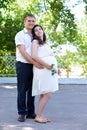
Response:
[{"label": "pale yellow-green shrubbery low at right, beyond the woman's belly", "polygon": [[65,70],[66,73],[71,72],[71,66],[80,65],[83,68],[83,73],[81,75],[87,77],[87,57],[84,57],[83,53],[69,52],[66,55],[57,55],[56,59],[58,62],[58,68]]}]

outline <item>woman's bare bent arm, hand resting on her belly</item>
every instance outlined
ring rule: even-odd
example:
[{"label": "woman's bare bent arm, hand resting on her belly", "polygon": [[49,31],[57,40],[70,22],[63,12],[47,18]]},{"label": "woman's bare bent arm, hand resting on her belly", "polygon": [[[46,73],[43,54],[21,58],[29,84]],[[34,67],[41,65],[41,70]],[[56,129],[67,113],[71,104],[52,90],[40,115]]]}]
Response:
[{"label": "woman's bare bent arm, hand resting on her belly", "polygon": [[38,63],[40,63],[41,65],[43,65],[45,68],[51,70],[52,66],[47,64],[46,62],[44,62],[41,58],[38,57],[38,41],[37,40],[33,40],[32,41],[32,58],[37,61]]}]

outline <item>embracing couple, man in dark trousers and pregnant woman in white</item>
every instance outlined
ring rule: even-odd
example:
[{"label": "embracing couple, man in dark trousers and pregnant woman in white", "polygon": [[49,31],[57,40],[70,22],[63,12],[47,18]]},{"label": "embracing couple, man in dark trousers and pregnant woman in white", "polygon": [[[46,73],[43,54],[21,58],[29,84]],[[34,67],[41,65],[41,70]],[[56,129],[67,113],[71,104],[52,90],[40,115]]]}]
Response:
[{"label": "embracing couple, man in dark trousers and pregnant woman in white", "polygon": [[[51,120],[43,116],[43,110],[58,90],[58,67],[52,49],[47,44],[42,26],[36,24],[33,14],[24,18],[24,29],[15,36],[17,72],[18,121],[33,118],[35,122]],[[39,95],[35,113],[34,99]]]}]

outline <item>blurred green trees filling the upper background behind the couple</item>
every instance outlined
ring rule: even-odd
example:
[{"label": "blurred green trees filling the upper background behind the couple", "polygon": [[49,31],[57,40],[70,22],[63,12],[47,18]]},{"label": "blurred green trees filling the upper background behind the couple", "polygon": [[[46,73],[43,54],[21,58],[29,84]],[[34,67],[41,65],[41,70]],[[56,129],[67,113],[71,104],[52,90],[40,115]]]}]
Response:
[{"label": "blurred green trees filling the upper background behind the couple", "polygon": [[32,13],[35,14],[37,23],[44,27],[52,48],[57,49],[67,42],[76,46],[80,55],[83,55],[81,61],[87,74],[87,0],[76,0],[71,5],[74,8],[84,3],[85,17],[80,21],[69,8],[69,2],[70,0],[0,0],[0,55],[3,55],[3,51],[6,54],[15,52],[15,34],[24,27],[25,14]]}]

